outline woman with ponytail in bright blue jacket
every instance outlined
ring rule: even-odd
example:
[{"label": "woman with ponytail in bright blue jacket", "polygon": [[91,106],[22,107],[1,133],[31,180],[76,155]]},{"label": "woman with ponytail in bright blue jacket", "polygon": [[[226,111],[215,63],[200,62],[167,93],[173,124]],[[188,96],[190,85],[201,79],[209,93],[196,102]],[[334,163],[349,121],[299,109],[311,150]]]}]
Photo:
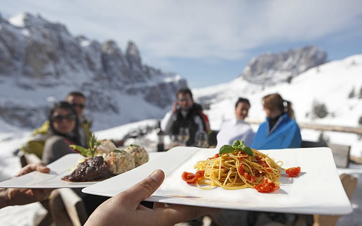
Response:
[{"label": "woman with ponytail in bright blue jacket", "polygon": [[262,98],[266,121],[261,123],[251,144],[257,150],[300,148],[301,130],[294,120],[292,103],[279,94]]}]

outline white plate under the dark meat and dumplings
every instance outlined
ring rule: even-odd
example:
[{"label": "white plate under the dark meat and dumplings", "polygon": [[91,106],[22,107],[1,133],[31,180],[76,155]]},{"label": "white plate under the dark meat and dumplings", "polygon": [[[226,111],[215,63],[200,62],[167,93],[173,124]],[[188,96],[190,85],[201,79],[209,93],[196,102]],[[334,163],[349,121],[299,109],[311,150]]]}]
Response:
[{"label": "white plate under the dark meat and dumplings", "polygon": [[[157,159],[162,153],[149,153],[150,161]],[[49,173],[33,171],[25,175],[15,177],[9,180],[0,182],[0,187],[13,188],[83,188],[95,184],[99,181],[91,182],[67,182],[61,180],[61,177],[69,175],[78,162],[84,157],[79,154],[68,154],[62,156],[57,161],[49,164],[51,169]]]}]

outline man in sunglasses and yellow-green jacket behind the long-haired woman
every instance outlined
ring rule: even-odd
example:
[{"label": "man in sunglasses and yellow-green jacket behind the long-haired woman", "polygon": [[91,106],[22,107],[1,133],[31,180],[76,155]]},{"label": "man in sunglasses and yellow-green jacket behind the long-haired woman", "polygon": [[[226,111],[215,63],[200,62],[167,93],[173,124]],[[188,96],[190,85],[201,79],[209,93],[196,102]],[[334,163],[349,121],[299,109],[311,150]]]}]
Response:
[{"label": "man in sunglasses and yellow-green jacket behind the long-haired woman", "polygon": [[[80,143],[83,147],[87,147],[87,141],[92,135],[92,132],[90,130],[92,122],[87,119],[83,114],[85,108],[85,100],[85,96],[80,92],[70,92],[65,97],[65,101],[71,104],[74,110],[77,112],[79,124],[81,125],[79,126]],[[41,127],[33,131],[31,140],[27,141],[20,148],[20,150],[26,153],[33,153],[41,159],[49,127],[50,124],[47,120],[43,123]]]}]

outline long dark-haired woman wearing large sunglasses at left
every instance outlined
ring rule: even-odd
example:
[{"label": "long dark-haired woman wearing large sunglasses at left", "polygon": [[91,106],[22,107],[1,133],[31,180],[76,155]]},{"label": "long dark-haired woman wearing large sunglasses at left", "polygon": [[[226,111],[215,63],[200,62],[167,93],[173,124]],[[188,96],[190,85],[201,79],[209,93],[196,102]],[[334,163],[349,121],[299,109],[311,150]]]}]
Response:
[{"label": "long dark-haired woman wearing large sunglasses at left", "polygon": [[67,102],[55,103],[48,115],[50,127],[45,141],[42,160],[52,163],[60,157],[74,153],[69,144],[81,145],[79,119],[74,108]]}]

